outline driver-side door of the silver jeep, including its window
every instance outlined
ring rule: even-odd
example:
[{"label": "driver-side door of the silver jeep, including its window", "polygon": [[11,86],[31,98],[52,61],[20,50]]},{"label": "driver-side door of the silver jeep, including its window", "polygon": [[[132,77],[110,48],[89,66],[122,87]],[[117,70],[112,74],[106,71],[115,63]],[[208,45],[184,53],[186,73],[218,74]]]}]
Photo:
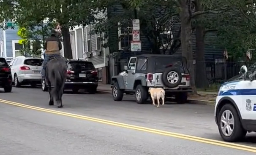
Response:
[{"label": "driver-side door of the silver jeep, including its window", "polygon": [[126,75],[125,89],[133,90],[133,84],[135,81],[135,70],[136,70],[136,57],[131,57],[128,63],[128,70]]}]

